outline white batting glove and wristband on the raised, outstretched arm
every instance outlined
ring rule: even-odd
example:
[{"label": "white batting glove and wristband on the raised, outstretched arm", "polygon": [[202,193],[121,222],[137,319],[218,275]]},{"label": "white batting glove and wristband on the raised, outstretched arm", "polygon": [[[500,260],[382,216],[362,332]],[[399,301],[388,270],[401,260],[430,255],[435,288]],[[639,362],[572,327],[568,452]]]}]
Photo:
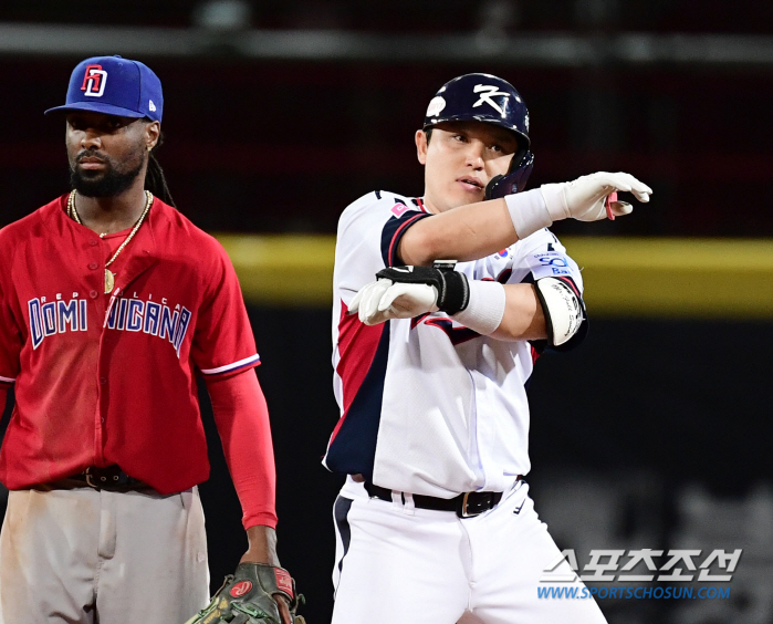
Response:
[{"label": "white batting glove and wristband on the raised, outstretched arm", "polygon": [[[649,201],[652,194],[651,188],[630,174],[598,171],[570,183],[542,185],[542,201],[530,197],[533,191],[508,195],[504,200],[519,239],[524,239],[561,219],[598,221],[607,218],[605,200],[617,191],[630,191],[643,202]],[[634,210],[626,201],[612,201],[609,209],[615,217]]]}]

